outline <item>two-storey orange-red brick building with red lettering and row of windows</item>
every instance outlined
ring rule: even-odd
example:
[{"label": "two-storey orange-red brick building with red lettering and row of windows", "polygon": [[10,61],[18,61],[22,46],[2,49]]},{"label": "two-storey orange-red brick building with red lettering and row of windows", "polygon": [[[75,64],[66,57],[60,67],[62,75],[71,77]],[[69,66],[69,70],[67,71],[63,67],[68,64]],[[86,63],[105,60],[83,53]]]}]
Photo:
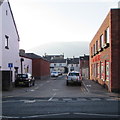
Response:
[{"label": "two-storey orange-red brick building with red lettering and row of windows", "polygon": [[120,9],[111,9],[90,43],[90,79],[120,91]]}]

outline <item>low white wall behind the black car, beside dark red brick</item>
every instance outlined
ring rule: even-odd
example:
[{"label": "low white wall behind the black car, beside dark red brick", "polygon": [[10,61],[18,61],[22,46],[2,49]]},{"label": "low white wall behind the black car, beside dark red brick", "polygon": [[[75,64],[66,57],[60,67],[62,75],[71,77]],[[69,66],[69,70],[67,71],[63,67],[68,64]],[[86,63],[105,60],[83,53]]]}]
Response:
[{"label": "low white wall behind the black car, beside dark red brick", "polygon": [[[20,57],[20,59],[23,58],[23,74],[24,73],[30,73],[32,74],[32,59],[25,58],[25,57]],[[19,60],[20,61],[20,60]],[[28,67],[28,68],[27,68]],[[19,66],[18,73],[21,73],[21,65]]]}]

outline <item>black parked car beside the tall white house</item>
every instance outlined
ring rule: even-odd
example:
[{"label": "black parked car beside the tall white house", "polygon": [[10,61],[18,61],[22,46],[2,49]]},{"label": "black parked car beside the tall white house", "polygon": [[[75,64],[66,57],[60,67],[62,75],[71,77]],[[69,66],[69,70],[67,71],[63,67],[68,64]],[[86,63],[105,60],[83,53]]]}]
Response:
[{"label": "black parked car beside the tall white house", "polygon": [[17,75],[17,78],[15,80],[15,86],[31,87],[34,85],[35,85],[35,79],[30,73]]}]

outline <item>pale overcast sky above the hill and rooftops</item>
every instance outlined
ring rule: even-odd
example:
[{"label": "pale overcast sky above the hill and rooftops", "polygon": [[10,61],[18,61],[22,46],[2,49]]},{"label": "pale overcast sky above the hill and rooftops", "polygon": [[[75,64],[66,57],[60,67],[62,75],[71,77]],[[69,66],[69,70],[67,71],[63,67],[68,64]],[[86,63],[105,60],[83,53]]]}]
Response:
[{"label": "pale overcast sky above the hill and rooftops", "polygon": [[[25,50],[49,42],[91,41],[119,0],[9,0]],[[88,2],[89,1],[89,2]]]}]

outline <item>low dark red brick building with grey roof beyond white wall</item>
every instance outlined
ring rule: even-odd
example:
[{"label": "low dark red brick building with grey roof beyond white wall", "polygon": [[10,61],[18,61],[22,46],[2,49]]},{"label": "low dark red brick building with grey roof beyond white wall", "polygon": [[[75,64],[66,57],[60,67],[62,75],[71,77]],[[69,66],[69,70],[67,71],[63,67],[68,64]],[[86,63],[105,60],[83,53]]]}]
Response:
[{"label": "low dark red brick building with grey roof beyond white wall", "polygon": [[20,56],[32,59],[32,75],[35,79],[47,79],[50,76],[50,62],[48,60],[34,53],[20,53]]}]

